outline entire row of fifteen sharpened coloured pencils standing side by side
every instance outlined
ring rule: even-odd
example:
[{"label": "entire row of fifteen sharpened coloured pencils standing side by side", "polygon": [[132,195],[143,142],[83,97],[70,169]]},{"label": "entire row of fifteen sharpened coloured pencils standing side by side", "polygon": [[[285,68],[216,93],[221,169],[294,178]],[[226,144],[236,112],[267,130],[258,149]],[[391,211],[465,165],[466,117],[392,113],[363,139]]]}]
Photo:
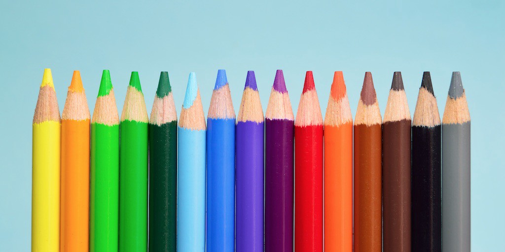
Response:
[{"label": "entire row of fifteen sharpened coloured pencils standing side by side", "polygon": [[149,118],[137,72],[119,117],[107,70],[92,117],[74,72],[60,118],[46,69],[32,168],[32,251],[470,251],[459,72],[442,121],[429,72],[412,121],[401,74],[382,119],[367,72],[353,122],[342,72],[323,120],[311,71],[295,119],[281,70],[266,116],[247,73],[237,118],[219,70],[206,122],[194,73],[179,120],[167,72]]}]

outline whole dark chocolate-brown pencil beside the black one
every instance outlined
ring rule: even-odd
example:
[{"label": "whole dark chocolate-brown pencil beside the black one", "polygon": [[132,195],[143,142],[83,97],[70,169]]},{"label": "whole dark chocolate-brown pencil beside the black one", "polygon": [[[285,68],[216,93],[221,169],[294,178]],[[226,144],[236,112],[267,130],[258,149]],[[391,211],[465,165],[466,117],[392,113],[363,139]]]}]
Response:
[{"label": "whole dark chocolate-brown pencil beside the black one", "polygon": [[400,72],[394,72],[382,122],[384,251],[411,250],[411,114]]}]

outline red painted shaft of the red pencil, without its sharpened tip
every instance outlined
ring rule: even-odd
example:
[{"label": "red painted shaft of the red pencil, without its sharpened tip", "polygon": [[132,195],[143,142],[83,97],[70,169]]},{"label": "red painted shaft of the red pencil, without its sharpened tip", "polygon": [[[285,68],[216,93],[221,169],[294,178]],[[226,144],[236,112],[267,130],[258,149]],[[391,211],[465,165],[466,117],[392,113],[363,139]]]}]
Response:
[{"label": "red painted shaft of the red pencil, without its sharpened tip", "polygon": [[294,127],[296,251],[323,251],[323,125]]}]

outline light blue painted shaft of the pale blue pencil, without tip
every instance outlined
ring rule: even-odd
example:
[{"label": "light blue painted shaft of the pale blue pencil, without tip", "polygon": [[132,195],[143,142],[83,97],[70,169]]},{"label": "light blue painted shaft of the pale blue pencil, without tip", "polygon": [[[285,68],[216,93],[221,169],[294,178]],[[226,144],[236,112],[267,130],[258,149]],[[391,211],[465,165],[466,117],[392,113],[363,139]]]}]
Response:
[{"label": "light blue painted shaft of the pale blue pencil, without tip", "polygon": [[178,128],[178,251],[205,251],[206,133]]}]

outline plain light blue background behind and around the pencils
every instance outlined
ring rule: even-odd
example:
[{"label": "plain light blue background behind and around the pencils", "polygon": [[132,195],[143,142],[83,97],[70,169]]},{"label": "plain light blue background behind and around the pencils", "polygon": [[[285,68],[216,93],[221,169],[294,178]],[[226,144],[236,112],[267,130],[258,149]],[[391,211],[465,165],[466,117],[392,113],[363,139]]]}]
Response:
[{"label": "plain light blue background behind and around the pencils", "polygon": [[109,69],[119,111],[130,72],[138,71],[149,112],[160,71],[168,71],[178,113],[191,71],[207,111],[217,70],[226,69],[238,112],[247,70],[256,71],[265,110],[275,70],[283,69],[294,111],[305,71],[313,70],[323,115],[333,71],[344,73],[353,114],[365,71],[373,74],[382,113],[393,71],[401,71],[412,114],[423,71],[431,71],[441,115],[451,72],[461,71],[472,116],[472,248],[503,249],[499,0],[3,1],[0,10],[1,251],[30,248],[31,124],[44,68],[53,70],[60,111],[73,70],[81,71],[92,110]]}]

